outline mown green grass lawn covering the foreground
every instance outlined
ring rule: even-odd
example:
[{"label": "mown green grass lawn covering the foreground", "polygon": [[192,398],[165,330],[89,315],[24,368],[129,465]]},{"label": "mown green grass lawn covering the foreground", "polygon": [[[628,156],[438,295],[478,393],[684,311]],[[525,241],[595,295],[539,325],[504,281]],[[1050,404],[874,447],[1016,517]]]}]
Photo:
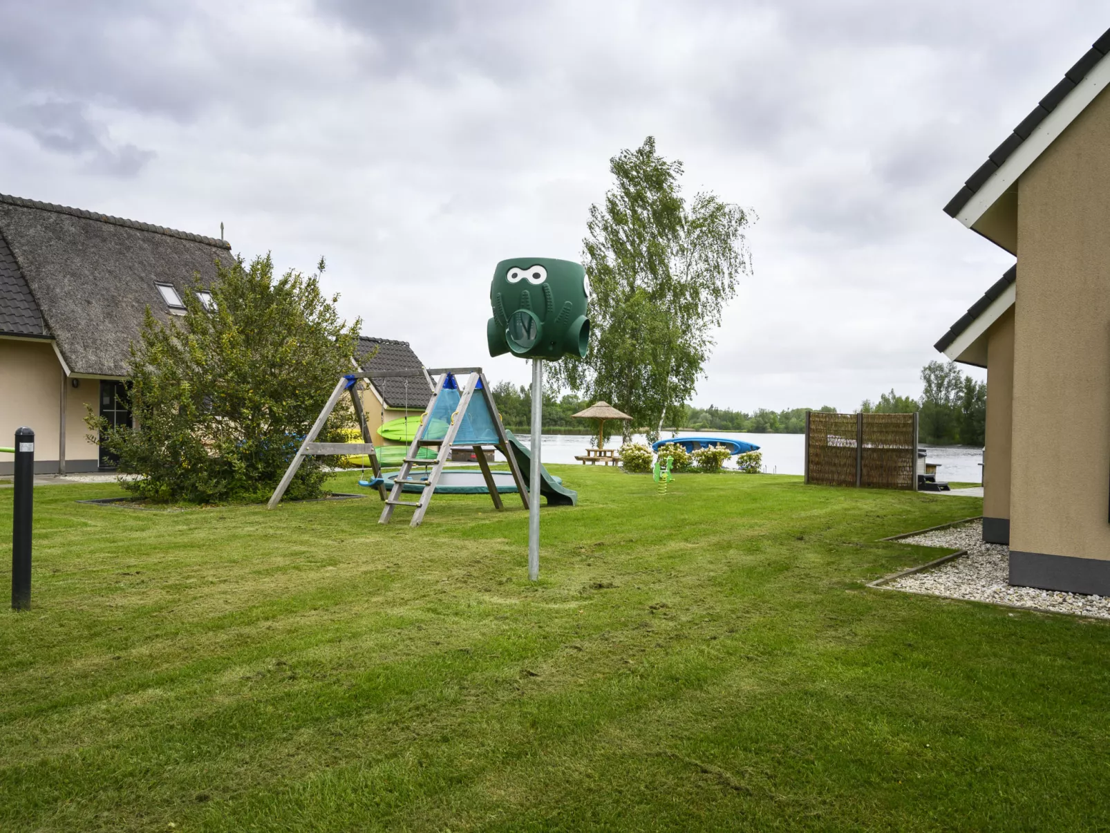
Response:
[{"label": "mown green grass lawn covering the foreground", "polygon": [[978,499],[552,468],[536,585],[514,500],[36,490],[0,830],[1110,826],[1107,623],[864,588]]}]

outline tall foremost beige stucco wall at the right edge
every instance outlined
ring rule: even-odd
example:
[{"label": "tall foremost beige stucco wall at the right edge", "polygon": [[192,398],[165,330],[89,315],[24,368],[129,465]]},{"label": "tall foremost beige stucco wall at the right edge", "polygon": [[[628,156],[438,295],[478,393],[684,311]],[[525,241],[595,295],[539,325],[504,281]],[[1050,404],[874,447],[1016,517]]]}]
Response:
[{"label": "tall foremost beige stucco wall at the right edge", "polygon": [[1110,96],[1019,181],[1010,549],[1110,559]]}]

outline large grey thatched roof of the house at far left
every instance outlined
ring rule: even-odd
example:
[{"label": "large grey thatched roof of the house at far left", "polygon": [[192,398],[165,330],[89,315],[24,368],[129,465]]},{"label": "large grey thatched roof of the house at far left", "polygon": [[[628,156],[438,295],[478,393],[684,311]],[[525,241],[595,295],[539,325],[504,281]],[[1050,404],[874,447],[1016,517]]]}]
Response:
[{"label": "large grey thatched roof of the house at far left", "polygon": [[232,260],[223,240],[4,194],[0,238],[0,332],[52,335],[89,375],[125,377],[147,308],[169,318],[155,281],[184,298]]}]

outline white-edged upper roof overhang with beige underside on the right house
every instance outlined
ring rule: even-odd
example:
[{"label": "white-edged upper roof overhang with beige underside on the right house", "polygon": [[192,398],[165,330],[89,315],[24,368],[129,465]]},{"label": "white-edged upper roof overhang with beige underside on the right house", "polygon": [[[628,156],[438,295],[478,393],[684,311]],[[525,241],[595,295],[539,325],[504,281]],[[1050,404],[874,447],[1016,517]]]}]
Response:
[{"label": "white-edged upper roof overhang with beige underside on the right house", "polygon": [[956,219],[1011,254],[1017,254],[1018,178],[1108,84],[1110,54],[1103,56],[1033,129],[1029,138],[987,178],[956,214]]}]

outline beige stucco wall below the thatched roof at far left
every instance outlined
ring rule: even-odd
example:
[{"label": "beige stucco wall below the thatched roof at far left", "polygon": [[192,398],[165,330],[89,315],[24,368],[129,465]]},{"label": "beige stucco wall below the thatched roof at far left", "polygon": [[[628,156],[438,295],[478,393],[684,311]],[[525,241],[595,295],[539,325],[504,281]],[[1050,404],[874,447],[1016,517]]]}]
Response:
[{"label": "beige stucco wall below the thatched roof at far left", "polygon": [[[75,390],[62,378],[49,341],[0,339],[0,445],[11,445],[16,429],[34,430],[37,469],[59,459],[61,395],[65,384],[65,459],[84,461],[85,469],[98,458],[98,448],[84,439],[84,405],[97,408],[100,382],[82,379]],[[11,463],[11,454],[0,454],[0,463]]]}]

